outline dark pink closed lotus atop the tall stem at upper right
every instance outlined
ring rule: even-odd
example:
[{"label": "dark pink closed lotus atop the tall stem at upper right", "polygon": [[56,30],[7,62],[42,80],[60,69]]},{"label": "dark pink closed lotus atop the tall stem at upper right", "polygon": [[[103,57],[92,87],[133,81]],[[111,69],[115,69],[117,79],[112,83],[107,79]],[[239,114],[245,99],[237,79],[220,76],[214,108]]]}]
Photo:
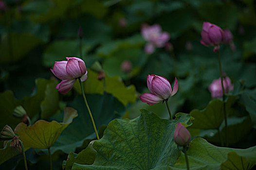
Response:
[{"label": "dark pink closed lotus atop the tall stem at upper right", "polygon": [[201,31],[201,44],[209,47],[215,46],[214,51],[219,51],[219,44],[223,42],[224,32],[217,25],[210,22],[203,22]]}]

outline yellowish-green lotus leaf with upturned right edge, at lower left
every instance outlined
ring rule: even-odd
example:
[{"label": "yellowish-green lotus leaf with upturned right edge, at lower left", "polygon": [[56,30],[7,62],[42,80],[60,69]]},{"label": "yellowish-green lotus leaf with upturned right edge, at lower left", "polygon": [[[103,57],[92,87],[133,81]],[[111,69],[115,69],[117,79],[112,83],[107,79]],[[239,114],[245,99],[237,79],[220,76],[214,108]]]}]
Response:
[{"label": "yellowish-green lotus leaf with upturned right edge, at lower left", "polygon": [[64,109],[63,122],[61,123],[55,120],[51,122],[38,120],[32,126],[27,126],[21,122],[16,126],[14,132],[19,135],[24,146],[48,149],[75,117],[77,117],[77,111],[71,107],[66,107]]}]

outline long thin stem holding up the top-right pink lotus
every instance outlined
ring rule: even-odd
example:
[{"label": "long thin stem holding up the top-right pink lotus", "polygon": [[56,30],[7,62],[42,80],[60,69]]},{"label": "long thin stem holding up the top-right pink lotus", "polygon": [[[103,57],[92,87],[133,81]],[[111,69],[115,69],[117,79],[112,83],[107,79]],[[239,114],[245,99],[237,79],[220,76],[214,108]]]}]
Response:
[{"label": "long thin stem holding up the top-right pink lotus", "polygon": [[222,70],[221,70],[221,61],[220,61],[220,55],[218,51],[218,58],[219,58],[219,74],[221,79],[221,87],[222,87],[222,100],[223,100],[223,111],[224,111],[224,119],[225,119],[225,139],[226,139],[226,146],[228,147],[228,124],[227,124],[227,113],[226,113],[226,103],[225,103],[225,91],[224,91],[224,85],[223,85],[223,76],[222,76]]}]

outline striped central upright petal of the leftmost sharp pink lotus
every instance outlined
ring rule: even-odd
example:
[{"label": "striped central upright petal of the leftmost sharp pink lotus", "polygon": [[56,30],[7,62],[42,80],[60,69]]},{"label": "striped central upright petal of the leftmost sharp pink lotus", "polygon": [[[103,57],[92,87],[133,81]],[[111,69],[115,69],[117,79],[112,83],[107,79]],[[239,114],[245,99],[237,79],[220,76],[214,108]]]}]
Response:
[{"label": "striped central upright petal of the leftmost sharp pink lotus", "polygon": [[67,66],[66,66],[66,71],[74,79],[82,76],[78,60],[74,59],[74,58],[69,58],[68,59],[68,63],[67,63]]}]

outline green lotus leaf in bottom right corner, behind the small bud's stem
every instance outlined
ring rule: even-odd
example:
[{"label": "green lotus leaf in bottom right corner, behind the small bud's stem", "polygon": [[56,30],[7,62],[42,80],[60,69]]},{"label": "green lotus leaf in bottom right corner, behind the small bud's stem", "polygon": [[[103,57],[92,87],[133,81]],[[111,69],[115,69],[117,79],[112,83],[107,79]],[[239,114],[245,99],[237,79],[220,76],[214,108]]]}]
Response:
[{"label": "green lotus leaf in bottom right corner, behind the small bud's stem", "polygon": [[[234,156],[234,153],[237,156]],[[234,165],[242,167],[242,165],[249,164],[249,167],[252,167],[253,164],[256,164],[256,147],[248,149],[222,148],[214,146],[200,137],[191,141],[187,155],[191,170],[245,170],[236,169]],[[169,170],[186,170],[184,153],[181,153]]]}]

